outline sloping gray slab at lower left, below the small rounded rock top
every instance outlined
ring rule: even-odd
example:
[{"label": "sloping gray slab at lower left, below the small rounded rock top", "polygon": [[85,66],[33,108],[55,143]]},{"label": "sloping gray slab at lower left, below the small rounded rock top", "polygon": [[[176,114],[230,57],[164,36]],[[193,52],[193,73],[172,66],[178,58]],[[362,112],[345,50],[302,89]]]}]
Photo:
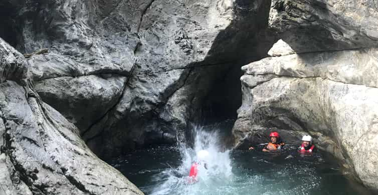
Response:
[{"label": "sloping gray slab at lower left, below the small rounded rock top", "polygon": [[14,82],[1,87],[5,151],[33,193],[142,194],[98,159],[59,112],[38,97],[26,98],[23,87]]}]

